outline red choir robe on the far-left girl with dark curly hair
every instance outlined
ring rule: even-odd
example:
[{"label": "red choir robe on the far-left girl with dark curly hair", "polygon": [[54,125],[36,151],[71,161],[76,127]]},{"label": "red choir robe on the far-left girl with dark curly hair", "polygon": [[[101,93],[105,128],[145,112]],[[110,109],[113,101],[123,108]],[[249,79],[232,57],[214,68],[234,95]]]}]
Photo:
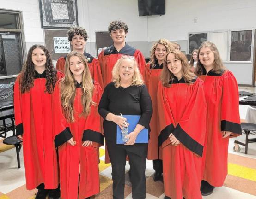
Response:
[{"label": "red choir robe on the far-left girl with dark curly hair", "polygon": [[[46,70],[36,72],[34,86],[21,93],[21,74],[14,85],[16,134],[23,136],[23,155],[28,190],[44,183],[45,189],[59,184],[57,154],[53,133],[53,94],[45,92]],[[57,72],[57,78],[63,77]]]}]

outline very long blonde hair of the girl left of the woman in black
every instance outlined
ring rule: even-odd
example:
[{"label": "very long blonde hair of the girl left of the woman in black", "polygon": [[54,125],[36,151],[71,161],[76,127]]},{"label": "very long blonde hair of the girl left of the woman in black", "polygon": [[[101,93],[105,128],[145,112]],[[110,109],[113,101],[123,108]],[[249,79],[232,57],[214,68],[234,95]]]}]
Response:
[{"label": "very long blonde hair of the girl left of the woman in black", "polygon": [[86,117],[90,113],[91,105],[96,105],[96,103],[92,101],[94,86],[85,56],[79,52],[72,51],[71,53],[67,54],[65,63],[65,77],[61,80],[61,105],[68,122],[74,122],[73,104],[76,94],[76,80],[73,76],[73,73],[69,69],[70,58],[73,56],[77,56],[85,66],[82,77],[81,96],[81,102],[84,109],[81,116]]}]

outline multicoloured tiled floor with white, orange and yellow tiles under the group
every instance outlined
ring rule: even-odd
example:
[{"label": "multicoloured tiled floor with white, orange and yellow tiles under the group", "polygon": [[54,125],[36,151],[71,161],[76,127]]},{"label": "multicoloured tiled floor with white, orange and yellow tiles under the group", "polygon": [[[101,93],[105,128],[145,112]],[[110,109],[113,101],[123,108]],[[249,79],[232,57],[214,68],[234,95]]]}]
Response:
[{"label": "multicoloured tiled floor with white, orange and yellow tiles under the group", "polygon": [[[255,88],[239,88],[255,92]],[[240,105],[240,117],[245,119],[247,106]],[[11,133],[12,134],[12,133]],[[256,135],[250,135],[256,137]],[[236,138],[240,141],[245,140],[245,135]],[[250,143],[248,155],[244,154],[244,146],[240,152],[234,152],[234,140],[230,139],[228,176],[223,187],[214,189],[212,195],[203,197],[204,199],[256,199],[256,143]],[[0,140],[0,150],[1,144]],[[23,152],[20,152],[21,168],[17,168],[15,149],[0,152],[0,199],[34,199],[36,190],[27,191],[25,187],[25,174]],[[100,193],[96,199],[111,199],[112,180],[111,164],[104,164],[104,147],[100,150]],[[129,165],[126,165],[128,171]],[[162,182],[152,180],[152,161],[146,162],[146,199],[164,199],[164,189]],[[125,185],[126,199],[132,199],[130,182],[126,174]]]}]

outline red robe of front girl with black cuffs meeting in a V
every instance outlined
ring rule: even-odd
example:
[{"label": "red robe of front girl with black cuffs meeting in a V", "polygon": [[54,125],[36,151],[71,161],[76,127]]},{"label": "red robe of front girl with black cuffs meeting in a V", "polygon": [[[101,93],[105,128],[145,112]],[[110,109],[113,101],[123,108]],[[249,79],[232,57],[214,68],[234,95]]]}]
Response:
[{"label": "red robe of front girl with black cuffs meeting in a V", "polygon": [[[187,84],[175,77],[167,88],[158,85],[159,146],[163,152],[166,198],[201,199],[201,156],[206,132],[203,81]],[[173,134],[180,144],[171,145]]]}]

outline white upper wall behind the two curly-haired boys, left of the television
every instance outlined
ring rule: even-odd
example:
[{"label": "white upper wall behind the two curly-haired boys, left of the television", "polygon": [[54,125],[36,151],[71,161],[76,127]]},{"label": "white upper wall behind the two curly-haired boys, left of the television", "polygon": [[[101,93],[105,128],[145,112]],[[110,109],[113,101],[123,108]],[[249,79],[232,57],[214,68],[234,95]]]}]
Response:
[{"label": "white upper wall behind the two curly-haired boys, left of the television", "polygon": [[147,18],[139,17],[138,0],[78,0],[79,26],[95,42],[95,31],[108,31],[110,21],[122,20],[129,26],[127,41],[148,41]]}]

